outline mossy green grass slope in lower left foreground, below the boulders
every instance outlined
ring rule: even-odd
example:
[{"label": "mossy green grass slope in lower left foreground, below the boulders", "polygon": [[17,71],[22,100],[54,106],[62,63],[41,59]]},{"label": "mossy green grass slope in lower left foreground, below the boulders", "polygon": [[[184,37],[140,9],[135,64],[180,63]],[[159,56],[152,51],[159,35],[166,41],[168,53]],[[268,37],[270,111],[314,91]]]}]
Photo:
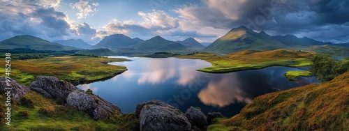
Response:
[{"label": "mossy green grass slope in lower left foreground, below the boulders", "polygon": [[[0,95],[0,100],[5,101],[5,97]],[[4,111],[1,104],[1,130],[133,130],[139,125],[135,113],[94,121],[83,111],[57,105],[54,100],[47,99],[35,91],[13,103],[10,126],[4,125],[5,120],[1,116]]]}]

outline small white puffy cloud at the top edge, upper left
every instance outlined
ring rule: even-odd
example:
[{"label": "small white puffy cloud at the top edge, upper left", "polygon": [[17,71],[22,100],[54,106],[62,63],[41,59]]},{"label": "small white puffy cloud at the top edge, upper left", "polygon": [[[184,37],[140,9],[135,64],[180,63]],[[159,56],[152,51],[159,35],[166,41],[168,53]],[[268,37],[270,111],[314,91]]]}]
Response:
[{"label": "small white puffy cloud at the top edge, upper left", "polygon": [[96,6],[99,6],[97,2],[80,0],[76,3],[69,3],[69,6],[74,10],[77,9],[79,13],[76,14],[77,18],[86,18],[89,15],[93,15],[97,11]]}]

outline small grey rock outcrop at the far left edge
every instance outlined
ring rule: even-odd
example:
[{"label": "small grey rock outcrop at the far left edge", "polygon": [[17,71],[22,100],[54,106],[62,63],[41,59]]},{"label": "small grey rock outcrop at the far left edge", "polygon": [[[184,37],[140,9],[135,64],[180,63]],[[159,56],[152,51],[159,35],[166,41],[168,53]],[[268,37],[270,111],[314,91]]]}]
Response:
[{"label": "small grey rock outcrop at the far left edge", "polygon": [[6,83],[5,77],[0,77],[0,93],[10,93],[10,98],[20,100],[25,94],[29,93],[30,89],[27,86],[18,84],[15,80],[10,79],[9,86]]}]

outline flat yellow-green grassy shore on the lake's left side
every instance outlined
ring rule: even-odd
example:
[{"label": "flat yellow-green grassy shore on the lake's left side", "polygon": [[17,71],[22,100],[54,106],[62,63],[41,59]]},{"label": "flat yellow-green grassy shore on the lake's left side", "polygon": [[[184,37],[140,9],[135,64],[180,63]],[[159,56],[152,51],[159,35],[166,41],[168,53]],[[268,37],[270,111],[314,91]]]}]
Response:
[{"label": "flat yellow-green grassy shore on the lake's left side", "polygon": [[[35,76],[47,75],[73,81],[92,81],[112,77],[124,72],[126,67],[107,65],[105,61],[125,61],[126,59],[107,59],[103,57],[90,56],[61,56],[46,57],[43,59],[16,60],[11,61],[11,75],[13,79],[21,84],[29,86]],[[5,65],[5,61],[0,61]],[[4,70],[0,73],[4,75]]]}]

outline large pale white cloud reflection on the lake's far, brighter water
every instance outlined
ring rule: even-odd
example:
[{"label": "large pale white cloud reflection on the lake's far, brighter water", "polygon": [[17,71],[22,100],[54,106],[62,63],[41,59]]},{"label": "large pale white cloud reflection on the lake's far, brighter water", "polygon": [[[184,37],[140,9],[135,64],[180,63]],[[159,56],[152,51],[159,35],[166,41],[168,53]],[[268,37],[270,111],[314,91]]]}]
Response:
[{"label": "large pale white cloud reflection on the lake's far, brighter water", "polygon": [[[182,86],[190,84],[190,82],[195,79],[198,75],[196,69],[209,66],[206,61],[200,60],[186,60],[186,59],[146,59],[145,61],[135,61],[138,62],[135,70],[133,67],[124,65],[130,70],[127,70],[122,74],[122,77],[127,79],[132,79],[133,77],[138,78],[138,84],[159,84],[167,82],[169,79],[178,77],[174,82]],[[183,64],[185,63],[185,64]],[[134,64],[134,63],[133,63]],[[132,64],[131,64],[132,65]],[[142,72],[142,73],[139,73]],[[117,77],[113,78],[113,81],[117,81]]]}]

